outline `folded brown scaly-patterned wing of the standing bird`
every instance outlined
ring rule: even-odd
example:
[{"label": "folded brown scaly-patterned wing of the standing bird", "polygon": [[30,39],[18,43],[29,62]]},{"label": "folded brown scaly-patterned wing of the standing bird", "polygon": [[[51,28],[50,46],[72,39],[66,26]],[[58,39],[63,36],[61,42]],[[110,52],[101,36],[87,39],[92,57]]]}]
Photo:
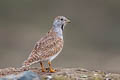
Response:
[{"label": "folded brown scaly-patterned wing of the standing bird", "polygon": [[56,54],[63,47],[63,40],[56,37],[55,33],[47,34],[42,37],[34,46],[27,63],[45,60]]}]

